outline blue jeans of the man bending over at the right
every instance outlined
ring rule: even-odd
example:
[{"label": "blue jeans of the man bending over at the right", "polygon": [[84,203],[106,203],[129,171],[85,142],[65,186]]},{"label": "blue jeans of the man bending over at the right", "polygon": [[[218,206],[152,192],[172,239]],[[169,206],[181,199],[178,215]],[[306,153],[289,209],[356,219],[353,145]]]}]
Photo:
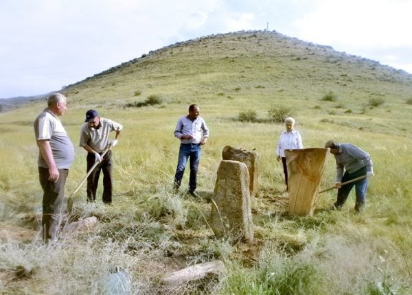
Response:
[{"label": "blue jeans of the man bending over at the right", "polygon": [[[357,178],[359,176],[366,175],[366,167],[359,169],[358,171],[350,174],[347,171],[343,174],[342,182],[346,182]],[[356,203],[355,203],[355,210],[359,211],[365,205],[366,199],[366,190],[367,190],[368,180],[367,178],[363,178],[361,180],[348,183],[347,185],[343,185],[340,189],[338,189],[338,199],[334,203],[336,208],[342,207],[345,204],[347,196],[349,195],[352,188],[355,186],[355,193],[356,193]]]}]

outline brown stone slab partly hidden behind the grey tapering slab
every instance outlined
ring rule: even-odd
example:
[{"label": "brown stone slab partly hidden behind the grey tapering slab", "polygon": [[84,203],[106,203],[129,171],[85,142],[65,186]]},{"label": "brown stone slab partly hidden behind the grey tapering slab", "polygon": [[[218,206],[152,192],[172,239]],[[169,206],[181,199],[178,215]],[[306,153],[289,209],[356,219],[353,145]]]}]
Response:
[{"label": "brown stone slab partly hidden behind the grey tapering slab", "polygon": [[222,151],[223,160],[233,160],[245,163],[249,170],[249,192],[252,197],[258,191],[258,154],[242,148],[234,148],[226,145]]}]

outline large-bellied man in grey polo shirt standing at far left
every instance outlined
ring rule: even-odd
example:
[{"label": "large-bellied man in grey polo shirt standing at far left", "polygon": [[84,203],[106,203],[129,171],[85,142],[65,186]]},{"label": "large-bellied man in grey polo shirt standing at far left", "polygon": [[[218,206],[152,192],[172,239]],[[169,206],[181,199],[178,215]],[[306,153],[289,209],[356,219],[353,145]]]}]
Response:
[{"label": "large-bellied man in grey polo shirt standing at far left", "polygon": [[66,213],[65,184],[74,159],[74,147],[62,122],[58,119],[67,110],[66,97],[54,93],[47,99],[47,108],[34,121],[38,146],[38,176],[43,189],[43,241],[56,239],[62,215]]}]

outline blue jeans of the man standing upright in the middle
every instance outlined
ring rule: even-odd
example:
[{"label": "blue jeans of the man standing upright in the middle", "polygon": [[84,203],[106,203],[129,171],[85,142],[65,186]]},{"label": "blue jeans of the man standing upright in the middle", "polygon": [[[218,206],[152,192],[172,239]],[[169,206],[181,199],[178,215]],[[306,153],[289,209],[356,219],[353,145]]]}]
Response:
[{"label": "blue jeans of the man standing upright in the middle", "polygon": [[174,175],[174,188],[179,189],[183,174],[185,173],[185,167],[187,164],[187,158],[190,157],[190,177],[189,177],[189,189],[194,191],[197,185],[197,171],[199,161],[201,160],[201,144],[200,143],[181,143],[179,149],[179,159],[177,162],[176,174]]}]

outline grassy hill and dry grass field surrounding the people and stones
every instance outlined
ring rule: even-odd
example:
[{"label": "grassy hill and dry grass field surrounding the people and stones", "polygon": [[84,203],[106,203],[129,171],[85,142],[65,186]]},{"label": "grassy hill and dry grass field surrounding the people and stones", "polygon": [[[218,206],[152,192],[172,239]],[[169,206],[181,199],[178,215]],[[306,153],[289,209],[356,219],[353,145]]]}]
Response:
[{"label": "grassy hill and dry grass field surrounding the people and stones", "polygon": [[[237,32],[151,51],[62,93],[69,107],[62,121],[75,145],[89,108],[124,125],[113,151],[114,204],[87,204],[80,189],[74,219],[93,215],[99,225],[43,246],[32,123],[45,102],[1,114],[1,292],[101,294],[115,266],[128,272],[134,294],[411,292],[412,75],[276,32]],[[181,193],[172,193],[179,150],[172,132],[192,103],[211,133],[199,166],[201,200],[184,193],[188,172]],[[319,196],[312,216],[286,213],[275,160],[284,125],[270,115],[277,110],[295,117],[305,147],[336,139],[371,154],[376,176],[365,213],[354,214],[353,192],[342,211],[325,210],[334,190]],[[245,114],[249,121],[240,120]],[[216,239],[207,224],[225,145],[260,155],[254,244]],[[85,166],[85,152],[76,147],[68,196]],[[335,173],[329,156],[321,188],[333,185]],[[160,282],[174,270],[214,259],[225,263],[225,275],[179,286]]]}]

